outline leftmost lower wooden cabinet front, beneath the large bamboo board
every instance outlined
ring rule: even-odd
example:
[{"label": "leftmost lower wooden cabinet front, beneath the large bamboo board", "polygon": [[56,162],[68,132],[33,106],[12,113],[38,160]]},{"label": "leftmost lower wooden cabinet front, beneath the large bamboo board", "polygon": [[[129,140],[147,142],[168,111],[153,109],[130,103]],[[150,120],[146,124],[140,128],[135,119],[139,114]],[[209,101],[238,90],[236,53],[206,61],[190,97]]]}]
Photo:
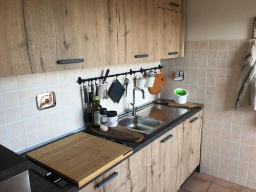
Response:
[{"label": "leftmost lower wooden cabinet front, beneath the large bamboo board", "polygon": [[[104,175],[87,185],[86,187],[79,190],[80,192],[114,192],[120,188],[123,184],[127,183],[132,184],[132,186],[140,185],[140,178],[136,179],[136,175],[140,173],[143,168],[146,166],[146,148],[142,148],[139,152],[132,155],[128,159],[124,160]],[[143,172],[142,172],[143,173]],[[141,173],[141,174],[142,174]],[[144,177],[144,180],[146,177]],[[130,183],[129,183],[130,182]],[[137,183],[138,182],[138,183]],[[145,182],[146,183],[146,182]],[[126,186],[126,187],[127,187]],[[123,186],[124,187],[124,186]],[[143,190],[145,187],[142,186]],[[140,187],[137,187],[140,189]],[[132,191],[138,191],[132,190]],[[140,191],[138,191],[140,192]]]}]

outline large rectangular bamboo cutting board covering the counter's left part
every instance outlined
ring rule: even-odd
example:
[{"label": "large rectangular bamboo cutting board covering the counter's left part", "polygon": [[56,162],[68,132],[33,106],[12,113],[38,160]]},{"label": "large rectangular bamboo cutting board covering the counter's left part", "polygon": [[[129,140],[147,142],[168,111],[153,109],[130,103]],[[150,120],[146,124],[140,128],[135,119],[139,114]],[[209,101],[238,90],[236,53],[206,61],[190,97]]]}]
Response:
[{"label": "large rectangular bamboo cutting board covering the counter's left part", "polygon": [[79,132],[26,156],[81,187],[132,153],[131,147]]}]

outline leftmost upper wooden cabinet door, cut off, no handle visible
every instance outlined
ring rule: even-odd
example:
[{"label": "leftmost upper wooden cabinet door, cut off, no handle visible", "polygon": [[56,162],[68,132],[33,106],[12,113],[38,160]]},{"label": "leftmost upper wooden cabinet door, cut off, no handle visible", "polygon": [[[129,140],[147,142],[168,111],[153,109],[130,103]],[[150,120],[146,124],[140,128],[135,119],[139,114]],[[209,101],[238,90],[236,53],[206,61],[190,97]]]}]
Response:
[{"label": "leftmost upper wooden cabinet door, cut off, no handle visible", "polygon": [[0,5],[0,77],[32,73],[22,1]]}]

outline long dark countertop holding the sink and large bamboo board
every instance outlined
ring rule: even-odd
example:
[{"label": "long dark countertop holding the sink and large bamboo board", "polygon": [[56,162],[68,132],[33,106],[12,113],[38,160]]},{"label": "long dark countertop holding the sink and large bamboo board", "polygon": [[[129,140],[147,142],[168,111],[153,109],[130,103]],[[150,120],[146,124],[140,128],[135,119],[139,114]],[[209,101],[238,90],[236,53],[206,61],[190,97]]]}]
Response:
[{"label": "long dark countertop holding the sink and large bamboo board", "polygon": [[[148,104],[148,105],[150,105],[150,104]],[[167,104],[161,104],[161,105],[166,105],[167,106]],[[185,114],[176,118],[175,120],[170,121],[170,122],[165,122],[165,124],[160,129],[156,130],[151,135],[143,134],[144,139],[142,141],[138,142],[138,143],[129,143],[129,142],[117,141],[117,140],[113,140],[111,138],[106,138],[106,137],[103,137],[103,136],[99,136],[98,134],[94,133],[90,129],[84,129],[83,132],[90,133],[92,135],[96,135],[96,136],[99,136],[99,137],[102,137],[102,138],[105,138],[105,139],[108,139],[108,140],[112,140],[112,141],[117,142],[117,143],[121,143],[121,144],[130,146],[130,147],[133,148],[133,152],[134,152],[133,154],[135,154],[136,152],[141,150],[143,147],[150,144],[151,142],[153,142],[157,138],[161,137],[163,134],[167,133],[168,131],[172,130],[174,127],[176,127],[177,125],[179,125],[180,123],[182,123],[183,121],[185,121],[186,119],[188,119],[189,117],[193,116],[194,114],[198,113],[201,110],[202,110],[201,108],[190,108],[188,112],[186,112]],[[166,114],[165,114],[165,116],[166,116]],[[125,159],[127,159],[127,158],[125,158]],[[122,161],[124,161],[125,159],[123,159]],[[122,161],[118,162],[117,164],[121,163]],[[115,167],[117,164],[110,167],[108,170],[106,170],[105,172],[100,174],[98,177],[100,177],[104,173],[108,172],[110,169]],[[94,181],[98,177],[94,178],[92,181]],[[54,192],[58,192],[58,191],[78,191],[82,188],[82,187],[78,188],[74,183],[71,183],[71,182],[69,182],[65,187],[60,188],[59,186],[57,186],[56,184],[53,184],[52,182],[50,182],[46,178],[40,176],[39,174],[37,174],[33,170],[29,170],[29,178],[30,178],[30,186],[31,186],[31,191],[32,192],[33,191],[36,191],[36,192],[37,191],[52,191],[52,192],[53,191]],[[92,181],[90,181],[88,184],[90,184]],[[84,185],[84,186],[86,186],[86,185]]]}]

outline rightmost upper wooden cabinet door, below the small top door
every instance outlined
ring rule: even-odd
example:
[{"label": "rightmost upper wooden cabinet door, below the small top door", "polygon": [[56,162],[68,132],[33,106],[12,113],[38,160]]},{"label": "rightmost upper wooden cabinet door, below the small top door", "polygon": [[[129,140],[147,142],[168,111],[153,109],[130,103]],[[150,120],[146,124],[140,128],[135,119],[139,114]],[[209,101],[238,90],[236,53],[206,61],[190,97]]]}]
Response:
[{"label": "rightmost upper wooden cabinet door, below the small top door", "polygon": [[156,9],[155,60],[184,56],[185,14]]}]

